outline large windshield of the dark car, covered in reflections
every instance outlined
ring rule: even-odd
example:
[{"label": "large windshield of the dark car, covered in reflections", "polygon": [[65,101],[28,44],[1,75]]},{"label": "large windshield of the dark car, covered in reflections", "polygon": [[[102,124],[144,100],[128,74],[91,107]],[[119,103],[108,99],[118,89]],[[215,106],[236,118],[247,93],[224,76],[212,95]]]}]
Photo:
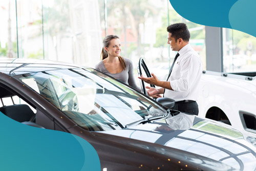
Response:
[{"label": "large windshield of the dark car, covered in reflections", "polygon": [[61,69],[15,77],[89,131],[123,129],[129,123],[165,113],[153,100],[93,69]]}]

